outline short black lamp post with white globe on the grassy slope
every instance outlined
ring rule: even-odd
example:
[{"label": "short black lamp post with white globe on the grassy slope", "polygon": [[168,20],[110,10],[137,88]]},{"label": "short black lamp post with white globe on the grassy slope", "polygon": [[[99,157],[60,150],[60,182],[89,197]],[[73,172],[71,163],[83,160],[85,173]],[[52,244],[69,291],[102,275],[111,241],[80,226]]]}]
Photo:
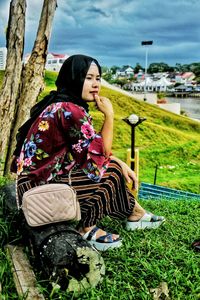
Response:
[{"label": "short black lamp post with white globe on the grassy slope", "polygon": [[135,114],[132,114],[129,117],[123,119],[123,121],[125,121],[127,124],[131,126],[131,169],[133,171],[135,171],[136,169],[135,168],[135,127],[141,124],[145,120],[146,118],[138,117]]}]

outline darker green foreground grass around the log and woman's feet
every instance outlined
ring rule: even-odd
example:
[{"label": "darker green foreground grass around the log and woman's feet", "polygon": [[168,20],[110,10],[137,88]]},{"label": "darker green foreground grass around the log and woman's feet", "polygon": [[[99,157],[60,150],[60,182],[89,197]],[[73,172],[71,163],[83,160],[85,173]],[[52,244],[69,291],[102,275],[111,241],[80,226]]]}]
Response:
[{"label": "darker green foreground grass around the log and woman's feet", "polygon": [[[127,232],[123,222],[104,219],[101,226],[112,231],[115,228],[123,237],[123,247],[102,253],[106,265],[102,284],[75,297],[56,289],[47,290],[44,282],[38,282],[46,299],[153,299],[149,290],[161,282],[167,283],[172,300],[200,299],[200,253],[191,248],[193,240],[200,237],[200,202],[151,200],[142,205],[165,215],[166,223],[156,230]],[[12,216],[7,216],[7,221],[0,220],[2,247],[16,239],[11,226],[14,220],[9,218]],[[1,299],[19,299],[3,248],[0,259]]]}]

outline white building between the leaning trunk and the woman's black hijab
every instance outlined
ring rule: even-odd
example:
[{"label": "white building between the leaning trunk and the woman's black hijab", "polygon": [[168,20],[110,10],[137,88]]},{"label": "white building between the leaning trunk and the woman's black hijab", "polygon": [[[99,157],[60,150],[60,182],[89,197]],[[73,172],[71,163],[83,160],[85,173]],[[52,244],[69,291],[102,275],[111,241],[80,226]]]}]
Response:
[{"label": "white building between the leaning trunk and the woman's black hijab", "polygon": [[48,53],[45,69],[59,72],[63,62],[69,57],[67,54]]}]

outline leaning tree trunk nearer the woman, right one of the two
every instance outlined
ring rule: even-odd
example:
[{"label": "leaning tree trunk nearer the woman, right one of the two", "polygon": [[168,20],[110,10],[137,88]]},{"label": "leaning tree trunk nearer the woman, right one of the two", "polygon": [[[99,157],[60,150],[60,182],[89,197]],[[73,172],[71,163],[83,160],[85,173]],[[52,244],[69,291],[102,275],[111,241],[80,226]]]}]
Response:
[{"label": "leaning tree trunk nearer the woman, right one of the two", "polygon": [[11,157],[16,145],[18,128],[28,117],[30,108],[44,88],[44,70],[51,27],[56,10],[56,0],[44,0],[37,37],[27,64],[22,69],[21,83],[16,101],[16,114],[10,135],[10,143],[5,160],[4,174],[10,171]]}]

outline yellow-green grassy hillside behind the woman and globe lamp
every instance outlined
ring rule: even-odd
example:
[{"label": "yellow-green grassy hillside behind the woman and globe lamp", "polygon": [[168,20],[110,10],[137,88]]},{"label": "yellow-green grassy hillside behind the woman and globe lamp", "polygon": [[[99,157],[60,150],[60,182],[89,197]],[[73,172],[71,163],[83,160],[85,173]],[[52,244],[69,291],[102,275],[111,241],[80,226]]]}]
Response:
[{"label": "yellow-green grassy hillside behind the woman and globe lamp", "polygon": [[[55,89],[57,73],[46,72],[46,88],[40,99]],[[0,73],[1,81],[1,73]],[[102,87],[101,95],[108,97],[115,111],[113,153],[126,160],[131,146],[131,128],[122,119],[130,114],[146,117],[136,127],[136,146],[140,151],[140,181],[153,183],[158,165],[157,181],[177,189],[200,193],[200,123],[167,112],[156,105],[134,100],[117,91]],[[102,114],[90,107],[97,130],[102,126]]]}]

